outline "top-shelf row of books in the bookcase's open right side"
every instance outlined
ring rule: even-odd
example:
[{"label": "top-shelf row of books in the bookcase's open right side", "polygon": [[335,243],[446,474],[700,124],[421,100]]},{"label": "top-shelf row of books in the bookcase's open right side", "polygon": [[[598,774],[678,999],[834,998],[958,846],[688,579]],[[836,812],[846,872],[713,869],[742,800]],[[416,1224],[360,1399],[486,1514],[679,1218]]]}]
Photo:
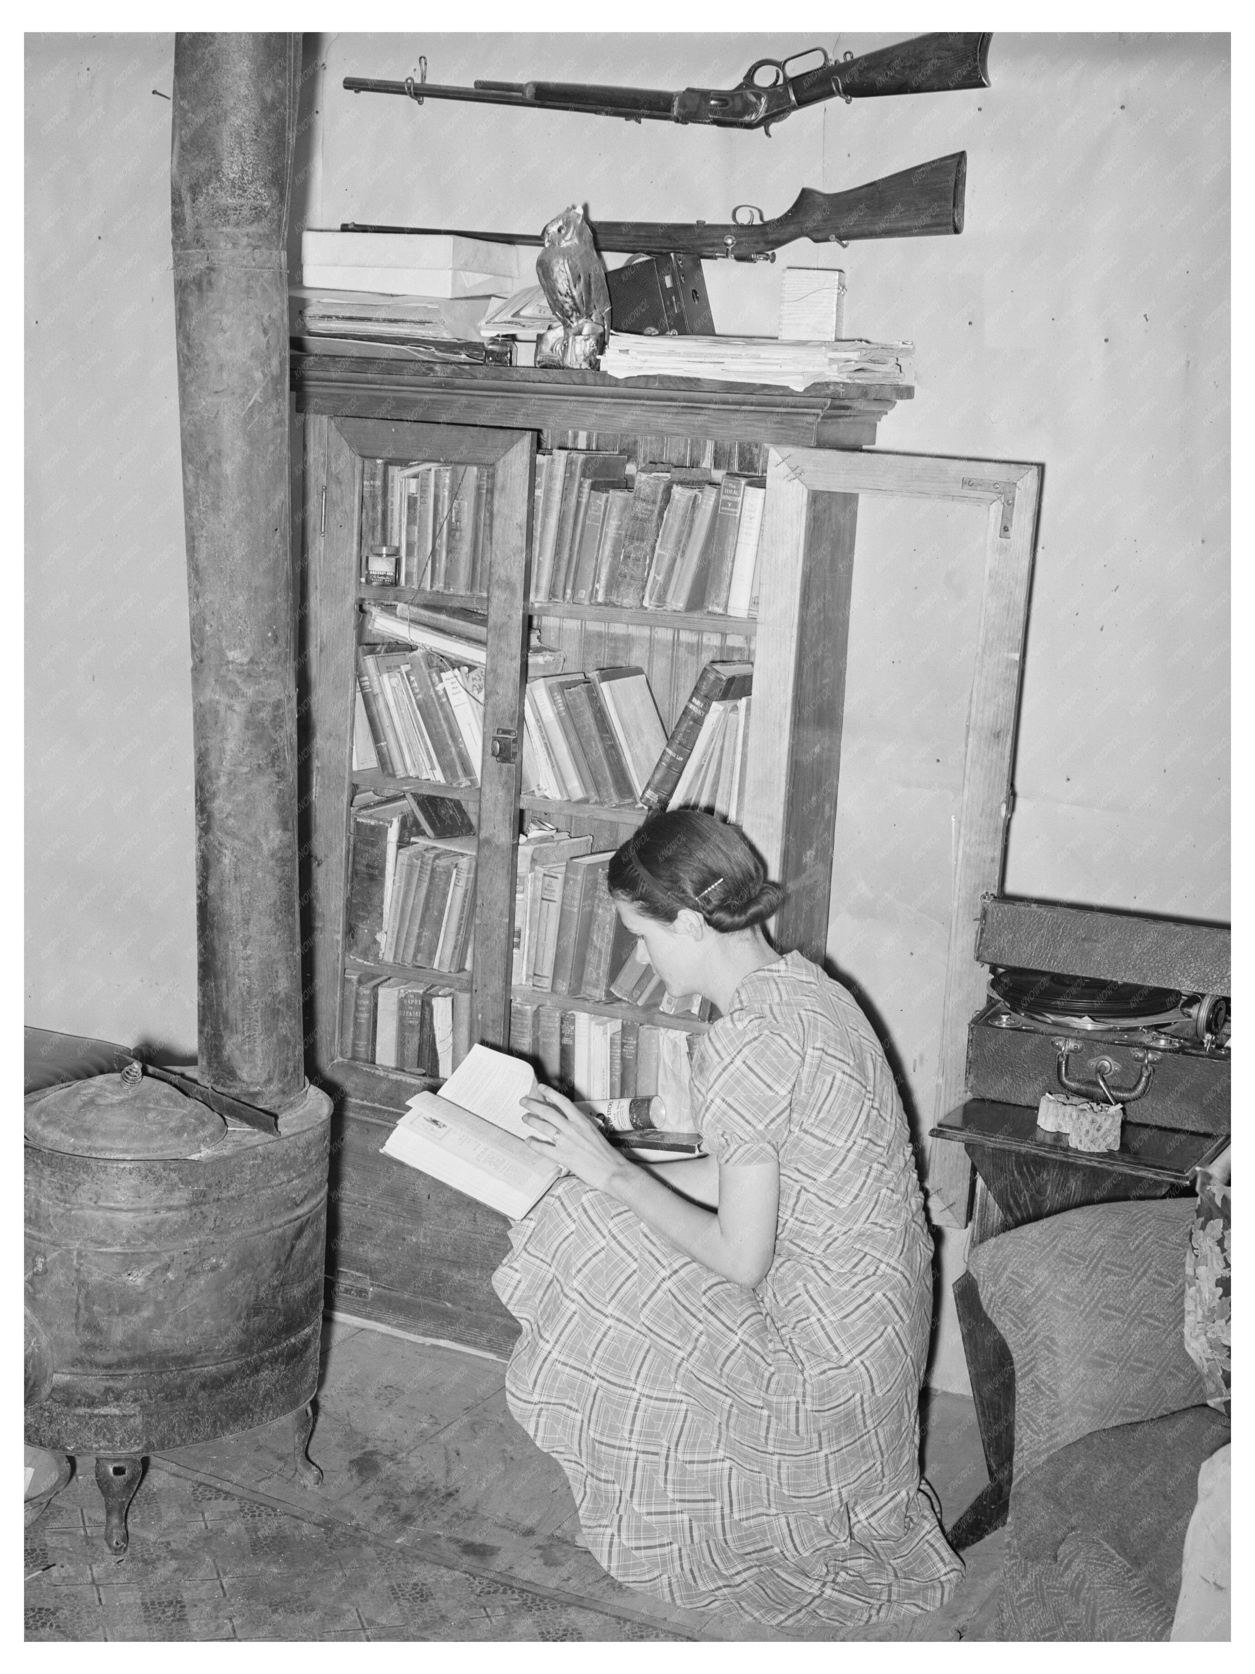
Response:
[{"label": "top-shelf row of books in the bookcase's open right side", "polygon": [[530,598],[751,616],[765,499],[765,482],[733,472],[539,454]]}]

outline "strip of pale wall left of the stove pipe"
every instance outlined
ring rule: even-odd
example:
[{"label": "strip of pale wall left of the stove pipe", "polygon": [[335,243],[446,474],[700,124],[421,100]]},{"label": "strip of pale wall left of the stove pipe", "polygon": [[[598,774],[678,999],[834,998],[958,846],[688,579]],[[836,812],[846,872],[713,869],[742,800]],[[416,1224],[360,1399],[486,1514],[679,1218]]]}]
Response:
[{"label": "strip of pale wall left of the stove pipe", "polygon": [[25,1021],[194,1056],[172,52],[25,37]]}]

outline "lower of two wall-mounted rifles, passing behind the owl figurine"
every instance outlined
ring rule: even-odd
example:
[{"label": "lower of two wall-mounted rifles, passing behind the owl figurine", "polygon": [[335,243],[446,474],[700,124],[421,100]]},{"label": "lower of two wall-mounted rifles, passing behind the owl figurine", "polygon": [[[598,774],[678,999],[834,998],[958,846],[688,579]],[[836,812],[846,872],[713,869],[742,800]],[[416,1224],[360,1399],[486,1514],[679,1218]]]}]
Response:
[{"label": "lower of two wall-mounted rifles, passing behind the owl figurine", "polygon": [[[731,256],[733,261],[775,261],[773,251],[793,239],[847,244],[862,238],[927,238],[964,229],[967,152],[934,157],[919,167],[887,174],[845,193],[817,193],[803,186],[793,204],[771,221],[753,221],[761,209],[738,204],[733,219],[706,221],[597,221],[587,223],[592,243],[606,251],[661,256]],[[741,211],[751,219],[738,221]],[[544,244],[539,233],[467,233],[447,226],[376,226],[341,221],[341,233],[427,233],[440,238],[480,238],[490,244]]]}]

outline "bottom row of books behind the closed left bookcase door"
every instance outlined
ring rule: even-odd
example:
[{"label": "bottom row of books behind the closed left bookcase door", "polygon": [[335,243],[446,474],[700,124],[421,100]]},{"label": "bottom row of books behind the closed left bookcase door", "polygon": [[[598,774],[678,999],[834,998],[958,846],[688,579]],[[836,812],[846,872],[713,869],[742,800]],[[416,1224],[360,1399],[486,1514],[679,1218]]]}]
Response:
[{"label": "bottom row of books behind the closed left bookcase door", "polygon": [[348,968],[340,1055],[410,1075],[450,1076],[470,1050],[470,993]]}]

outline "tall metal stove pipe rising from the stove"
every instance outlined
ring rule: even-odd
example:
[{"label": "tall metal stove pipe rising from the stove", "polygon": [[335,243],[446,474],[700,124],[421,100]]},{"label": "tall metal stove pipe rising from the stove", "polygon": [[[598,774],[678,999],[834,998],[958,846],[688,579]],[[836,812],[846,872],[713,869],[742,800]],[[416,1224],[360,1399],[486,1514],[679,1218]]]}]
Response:
[{"label": "tall metal stove pipe rising from the stove", "polygon": [[286,259],[300,70],[300,35],[174,39],[199,1068],[274,1112],[305,1086]]}]

